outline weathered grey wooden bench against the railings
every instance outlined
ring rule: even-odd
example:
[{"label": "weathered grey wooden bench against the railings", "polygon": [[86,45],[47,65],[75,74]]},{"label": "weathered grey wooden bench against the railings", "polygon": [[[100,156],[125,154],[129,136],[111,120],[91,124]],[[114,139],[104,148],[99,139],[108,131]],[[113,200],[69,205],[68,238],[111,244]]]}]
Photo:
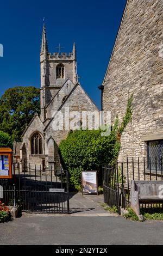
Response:
[{"label": "weathered grey wooden bench against the railings", "polygon": [[131,180],[131,208],[142,220],[140,203],[163,203],[163,181]]}]

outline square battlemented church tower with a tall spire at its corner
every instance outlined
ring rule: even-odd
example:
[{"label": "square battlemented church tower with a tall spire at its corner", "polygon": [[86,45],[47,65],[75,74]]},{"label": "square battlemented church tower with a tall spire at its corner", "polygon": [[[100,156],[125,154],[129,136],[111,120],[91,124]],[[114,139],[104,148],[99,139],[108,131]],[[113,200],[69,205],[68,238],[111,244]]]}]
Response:
[{"label": "square battlemented church tower with a tall spire at its corner", "polygon": [[76,84],[78,82],[77,75],[77,58],[76,44],[73,44],[73,50],[69,54],[60,53],[53,54],[48,51],[48,42],[46,36],[46,26],[43,24],[40,68],[41,68],[41,120],[46,119],[46,106],[57,94],[62,85],[68,78]]}]

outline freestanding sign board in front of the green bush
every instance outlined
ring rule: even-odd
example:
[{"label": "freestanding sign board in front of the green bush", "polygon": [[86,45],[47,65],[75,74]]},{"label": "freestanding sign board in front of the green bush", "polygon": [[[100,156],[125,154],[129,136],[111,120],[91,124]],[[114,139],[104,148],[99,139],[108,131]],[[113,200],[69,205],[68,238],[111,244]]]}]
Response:
[{"label": "freestanding sign board in front of the green bush", "polygon": [[82,194],[98,194],[97,170],[82,172]]}]

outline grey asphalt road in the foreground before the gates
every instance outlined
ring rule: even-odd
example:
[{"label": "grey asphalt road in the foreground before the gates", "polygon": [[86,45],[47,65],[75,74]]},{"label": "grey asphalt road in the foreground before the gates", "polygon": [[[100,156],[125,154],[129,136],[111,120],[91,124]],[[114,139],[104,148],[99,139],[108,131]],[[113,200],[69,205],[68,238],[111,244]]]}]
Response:
[{"label": "grey asphalt road in the foreground before the gates", "polygon": [[162,245],[163,222],[121,216],[24,215],[0,224],[0,245]]}]

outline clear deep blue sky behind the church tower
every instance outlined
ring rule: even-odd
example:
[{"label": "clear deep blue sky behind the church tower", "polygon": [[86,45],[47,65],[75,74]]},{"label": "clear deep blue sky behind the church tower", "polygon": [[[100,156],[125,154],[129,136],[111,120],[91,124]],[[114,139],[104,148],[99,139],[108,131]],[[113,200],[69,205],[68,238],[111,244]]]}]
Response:
[{"label": "clear deep blue sky behind the church tower", "polygon": [[1,1],[0,96],[15,86],[40,88],[40,44],[46,18],[49,52],[77,45],[80,83],[98,107],[101,85],[126,0]]}]

